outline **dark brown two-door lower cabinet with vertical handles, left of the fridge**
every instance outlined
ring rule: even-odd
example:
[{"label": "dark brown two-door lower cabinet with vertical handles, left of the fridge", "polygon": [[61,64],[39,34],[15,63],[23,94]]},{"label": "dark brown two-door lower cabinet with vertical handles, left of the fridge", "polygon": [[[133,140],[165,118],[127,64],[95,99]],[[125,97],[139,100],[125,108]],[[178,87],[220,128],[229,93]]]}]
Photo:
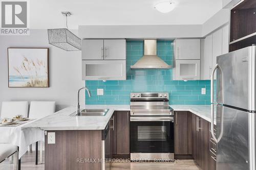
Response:
[{"label": "dark brown two-door lower cabinet with vertical handles, left of the fridge", "polygon": [[192,114],[192,155],[196,163],[204,170],[216,170],[210,155],[210,123]]}]

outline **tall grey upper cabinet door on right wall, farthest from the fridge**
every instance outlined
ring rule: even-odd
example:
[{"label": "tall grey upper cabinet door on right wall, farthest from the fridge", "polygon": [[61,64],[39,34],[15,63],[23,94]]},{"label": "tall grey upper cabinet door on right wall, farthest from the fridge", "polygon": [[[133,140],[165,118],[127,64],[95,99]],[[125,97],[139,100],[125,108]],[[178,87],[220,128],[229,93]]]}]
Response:
[{"label": "tall grey upper cabinet door on right wall, farthest from the fridge", "polygon": [[203,40],[203,56],[201,57],[201,80],[210,80],[212,68],[212,34]]}]

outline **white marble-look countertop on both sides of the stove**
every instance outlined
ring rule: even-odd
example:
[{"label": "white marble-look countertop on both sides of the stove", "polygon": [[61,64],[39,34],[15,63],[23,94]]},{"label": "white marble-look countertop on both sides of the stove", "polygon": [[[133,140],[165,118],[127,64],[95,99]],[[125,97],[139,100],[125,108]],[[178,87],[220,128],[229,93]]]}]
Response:
[{"label": "white marble-look countertop on both sides of the stove", "polygon": [[[190,111],[210,122],[210,106],[170,105],[175,111]],[[86,105],[88,109],[109,109],[105,116],[70,116],[76,107],[68,107],[23,127],[41,130],[103,130],[114,111],[130,110],[130,105]]]}]

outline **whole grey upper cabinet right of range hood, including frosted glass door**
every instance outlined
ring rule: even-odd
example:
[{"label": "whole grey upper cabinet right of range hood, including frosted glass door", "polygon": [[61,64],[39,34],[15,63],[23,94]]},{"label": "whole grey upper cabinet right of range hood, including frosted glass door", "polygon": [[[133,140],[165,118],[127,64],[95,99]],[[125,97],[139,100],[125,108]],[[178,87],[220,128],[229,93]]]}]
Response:
[{"label": "whole grey upper cabinet right of range hood, including frosted glass door", "polygon": [[200,80],[200,39],[176,39],[174,42],[173,80]]}]

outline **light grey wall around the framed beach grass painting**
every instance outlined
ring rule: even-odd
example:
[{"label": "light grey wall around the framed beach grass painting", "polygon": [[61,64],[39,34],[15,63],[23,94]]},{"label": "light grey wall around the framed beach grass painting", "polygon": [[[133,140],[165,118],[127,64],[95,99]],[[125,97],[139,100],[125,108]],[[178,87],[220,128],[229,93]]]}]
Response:
[{"label": "light grey wall around the framed beach grass painting", "polygon": [[[50,87],[8,88],[8,47],[49,47]],[[30,30],[30,36],[0,36],[0,108],[3,101],[36,100],[56,101],[56,109],[60,110],[76,104],[77,90],[83,85],[81,52],[66,52],[50,45],[47,30]]]}]

